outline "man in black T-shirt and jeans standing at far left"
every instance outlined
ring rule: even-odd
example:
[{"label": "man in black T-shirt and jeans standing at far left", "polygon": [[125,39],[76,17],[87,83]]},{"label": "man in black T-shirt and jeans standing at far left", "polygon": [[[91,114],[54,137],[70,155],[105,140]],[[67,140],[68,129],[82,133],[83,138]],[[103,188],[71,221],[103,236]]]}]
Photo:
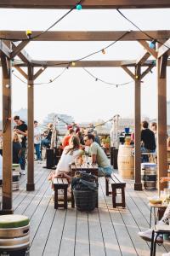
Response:
[{"label": "man in black T-shirt and jeans standing at far left", "polygon": [[19,115],[14,116],[14,132],[17,133],[21,138],[21,154],[20,154],[20,168],[21,168],[21,174],[26,174],[26,137],[27,137],[27,131],[28,127],[26,123],[22,120],[20,120]]}]

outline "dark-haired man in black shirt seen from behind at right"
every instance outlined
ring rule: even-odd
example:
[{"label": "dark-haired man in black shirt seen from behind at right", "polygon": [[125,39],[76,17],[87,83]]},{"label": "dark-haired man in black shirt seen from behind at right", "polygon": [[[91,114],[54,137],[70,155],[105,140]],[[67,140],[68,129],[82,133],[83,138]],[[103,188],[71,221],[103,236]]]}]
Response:
[{"label": "dark-haired man in black shirt seen from behind at right", "polygon": [[[156,139],[155,134],[148,128],[149,124],[147,121],[142,122],[142,131],[141,131],[141,152],[149,153],[156,151]],[[144,155],[142,161],[148,162],[148,155]]]}]

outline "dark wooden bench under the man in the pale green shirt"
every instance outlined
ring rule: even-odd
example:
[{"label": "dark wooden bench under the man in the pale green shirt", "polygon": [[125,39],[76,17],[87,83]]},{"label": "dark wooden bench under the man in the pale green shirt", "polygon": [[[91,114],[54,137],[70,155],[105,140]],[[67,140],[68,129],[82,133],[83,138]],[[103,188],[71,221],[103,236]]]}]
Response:
[{"label": "dark wooden bench under the man in the pale green shirt", "polygon": [[[111,191],[110,191],[110,184],[111,184]],[[111,177],[105,177],[105,194],[106,195],[112,195],[112,203],[113,207],[123,207],[125,208],[125,187],[126,183],[122,181],[120,177],[118,177],[116,174],[111,174]],[[116,189],[121,189],[122,194],[122,202],[116,203]]]}]

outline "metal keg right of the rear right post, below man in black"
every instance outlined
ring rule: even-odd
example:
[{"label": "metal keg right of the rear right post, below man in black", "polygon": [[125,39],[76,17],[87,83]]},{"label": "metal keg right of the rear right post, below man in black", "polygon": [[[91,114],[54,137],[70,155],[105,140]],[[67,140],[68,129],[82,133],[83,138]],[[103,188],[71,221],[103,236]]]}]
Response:
[{"label": "metal keg right of the rear right post, below man in black", "polygon": [[156,189],[157,166],[156,163],[142,163],[141,177],[144,184],[144,189]]}]

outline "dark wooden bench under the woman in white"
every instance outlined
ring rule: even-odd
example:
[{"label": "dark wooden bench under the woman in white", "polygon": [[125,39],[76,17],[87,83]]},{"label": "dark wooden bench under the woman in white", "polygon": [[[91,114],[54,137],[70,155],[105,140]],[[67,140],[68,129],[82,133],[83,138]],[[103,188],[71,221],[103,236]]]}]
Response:
[{"label": "dark wooden bench under the woman in white", "polygon": [[[69,183],[65,177],[54,177],[53,180],[54,184],[54,209],[58,209],[59,207],[64,207],[67,209],[67,189],[69,186]],[[59,203],[58,195],[59,194],[59,189],[64,190],[64,202]]]}]

